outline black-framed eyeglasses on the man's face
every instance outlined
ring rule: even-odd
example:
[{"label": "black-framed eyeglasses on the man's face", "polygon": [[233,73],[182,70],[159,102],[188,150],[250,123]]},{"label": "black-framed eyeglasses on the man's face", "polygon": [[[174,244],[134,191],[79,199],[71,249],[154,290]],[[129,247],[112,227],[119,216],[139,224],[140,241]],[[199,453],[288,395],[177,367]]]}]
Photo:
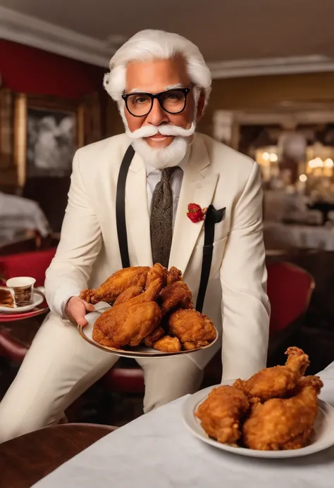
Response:
[{"label": "black-framed eyeglasses on the man's face", "polygon": [[154,99],[159,101],[161,108],[168,113],[181,113],[187,104],[188,88],[174,88],[160,93],[134,92],[122,95],[125,106],[134,117],[145,117],[149,115]]}]

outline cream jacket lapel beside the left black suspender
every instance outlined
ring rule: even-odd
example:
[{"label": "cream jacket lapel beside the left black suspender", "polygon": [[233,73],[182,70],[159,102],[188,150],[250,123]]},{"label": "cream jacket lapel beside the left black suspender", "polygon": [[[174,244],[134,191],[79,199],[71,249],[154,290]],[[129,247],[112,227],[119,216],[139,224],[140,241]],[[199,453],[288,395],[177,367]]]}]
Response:
[{"label": "cream jacket lapel beside the left black suspender", "polygon": [[140,156],[135,153],[125,186],[125,218],[131,265],[152,265],[147,173]]}]

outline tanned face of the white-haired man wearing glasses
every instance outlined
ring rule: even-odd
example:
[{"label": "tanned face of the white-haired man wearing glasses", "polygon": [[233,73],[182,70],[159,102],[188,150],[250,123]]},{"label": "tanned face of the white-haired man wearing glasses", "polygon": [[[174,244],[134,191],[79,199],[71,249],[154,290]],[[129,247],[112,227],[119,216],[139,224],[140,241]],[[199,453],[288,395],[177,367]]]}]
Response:
[{"label": "tanned face of the white-haired man wearing glasses", "polygon": [[[187,75],[185,61],[180,56],[156,61],[132,62],[128,64],[126,71],[125,92],[127,94],[131,92],[156,94],[171,88],[187,88],[190,85],[190,77]],[[140,129],[144,125],[159,127],[159,125],[171,124],[183,129],[189,129],[194,119],[197,118],[199,120],[202,115],[203,105],[204,96],[201,96],[197,108],[197,116],[195,116],[194,96],[192,91],[190,91],[187,95],[185,109],[181,113],[164,111],[159,101],[154,99],[148,115],[135,117],[125,108],[125,118],[131,132]],[[163,136],[161,134],[145,138],[152,149],[163,149],[169,146],[174,139],[175,136]]]}]

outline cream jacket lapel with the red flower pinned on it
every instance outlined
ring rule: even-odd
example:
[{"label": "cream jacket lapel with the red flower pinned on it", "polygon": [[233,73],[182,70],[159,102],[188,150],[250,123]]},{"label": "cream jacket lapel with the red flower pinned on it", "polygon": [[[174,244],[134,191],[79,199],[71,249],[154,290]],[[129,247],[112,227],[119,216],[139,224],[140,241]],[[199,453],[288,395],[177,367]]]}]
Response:
[{"label": "cream jacket lapel with the red flower pinned on it", "polygon": [[194,138],[190,161],[183,175],[169,258],[169,266],[176,266],[183,273],[203,227],[203,222],[192,223],[187,218],[187,206],[194,203],[202,208],[209,207],[218,181],[217,174],[211,173],[206,176],[207,172],[204,168],[209,164],[209,155],[204,142],[197,136]]}]

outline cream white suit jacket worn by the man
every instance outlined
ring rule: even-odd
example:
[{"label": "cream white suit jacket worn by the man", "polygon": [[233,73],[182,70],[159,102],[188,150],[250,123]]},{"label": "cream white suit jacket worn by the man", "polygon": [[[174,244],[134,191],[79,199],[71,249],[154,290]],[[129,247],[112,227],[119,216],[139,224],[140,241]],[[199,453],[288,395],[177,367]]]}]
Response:
[{"label": "cream white suit jacket worn by the man", "polygon": [[[47,270],[47,301],[56,315],[61,316],[64,299],[87,287],[99,287],[122,268],[116,184],[129,144],[130,139],[120,134],[75,154],[61,241]],[[269,326],[259,166],[210,137],[194,137],[183,175],[169,265],[184,273],[196,303],[204,225],[187,218],[190,203],[226,208],[225,218],[215,225],[203,313],[221,334],[223,379],[249,377],[266,365]],[[130,263],[152,265],[147,172],[137,154],[126,181],[125,211]],[[204,368],[220,345],[218,342],[190,357]]]}]

